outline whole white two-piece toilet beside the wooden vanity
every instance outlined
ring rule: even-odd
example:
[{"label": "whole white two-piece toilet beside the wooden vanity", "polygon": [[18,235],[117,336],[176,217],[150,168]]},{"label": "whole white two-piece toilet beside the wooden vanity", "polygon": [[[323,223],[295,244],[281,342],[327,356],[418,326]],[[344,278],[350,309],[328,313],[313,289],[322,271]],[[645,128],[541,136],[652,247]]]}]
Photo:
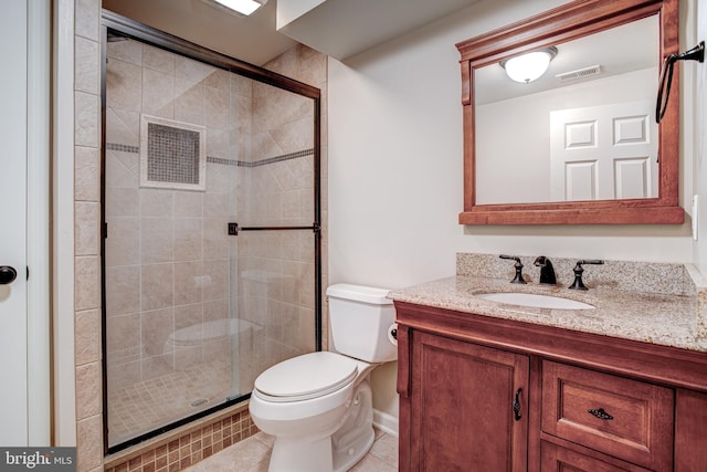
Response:
[{"label": "whole white two-piece toilet beside the wooden vanity", "polygon": [[395,310],[388,290],[327,289],[335,352],[284,360],[255,379],[250,412],[274,436],[271,472],[344,472],[373,443],[369,376],[395,360]]}]

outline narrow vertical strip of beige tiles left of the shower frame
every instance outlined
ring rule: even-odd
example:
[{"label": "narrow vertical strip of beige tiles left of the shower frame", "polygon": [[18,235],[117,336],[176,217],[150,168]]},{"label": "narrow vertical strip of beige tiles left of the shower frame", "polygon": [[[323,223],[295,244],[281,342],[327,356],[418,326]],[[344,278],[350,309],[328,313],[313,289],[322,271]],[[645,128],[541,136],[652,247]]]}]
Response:
[{"label": "narrow vertical strip of beige tiles left of the shower frame", "polygon": [[[77,471],[103,470],[101,1],[74,0],[74,361]],[[64,25],[71,32],[71,25]],[[67,444],[68,445],[68,444]]]}]

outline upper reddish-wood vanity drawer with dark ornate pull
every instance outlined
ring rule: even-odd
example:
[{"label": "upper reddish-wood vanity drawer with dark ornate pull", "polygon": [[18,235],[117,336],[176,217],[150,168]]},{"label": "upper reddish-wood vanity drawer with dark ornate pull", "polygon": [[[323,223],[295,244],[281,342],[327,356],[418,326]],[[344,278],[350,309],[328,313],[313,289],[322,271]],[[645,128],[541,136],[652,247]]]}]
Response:
[{"label": "upper reddish-wood vanity drawer with dark ornate pull", "polygon": [[542,430],[647,469],[672,469],[673,405],[668,388],[542,363]]}]

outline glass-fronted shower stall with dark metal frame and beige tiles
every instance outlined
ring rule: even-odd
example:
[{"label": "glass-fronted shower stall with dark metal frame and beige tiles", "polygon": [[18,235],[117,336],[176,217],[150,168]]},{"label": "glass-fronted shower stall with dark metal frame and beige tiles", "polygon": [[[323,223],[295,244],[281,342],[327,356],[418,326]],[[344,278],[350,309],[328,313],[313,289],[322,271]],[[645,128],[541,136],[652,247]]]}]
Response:
[{"label": "glass-fronted shower stall with dark metal frame and beige tiles", "polygon": [[103,15],[108,452],[321,348],[318,88]]}]

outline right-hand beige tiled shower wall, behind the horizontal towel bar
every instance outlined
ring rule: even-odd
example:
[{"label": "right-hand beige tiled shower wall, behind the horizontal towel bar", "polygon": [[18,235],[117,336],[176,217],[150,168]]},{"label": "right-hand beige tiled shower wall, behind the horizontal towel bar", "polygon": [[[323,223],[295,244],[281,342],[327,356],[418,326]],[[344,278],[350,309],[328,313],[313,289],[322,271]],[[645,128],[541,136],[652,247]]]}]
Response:
[{"label": "right-hand beige tiled shower wall, behind the horizontal towel bar", "polygon": [[[300,46],[272,64],[287,76],[324,85],[326,57]],[[277,70],[277,67],[289,70]],[[254,83],[249,166],[239,180],[242,225],[310,227],[314,222],[314,107],[308,98]],[[241,379],[315,347],[314,233],[239,235],[239,314],[263,328],[241,353]]]}]

